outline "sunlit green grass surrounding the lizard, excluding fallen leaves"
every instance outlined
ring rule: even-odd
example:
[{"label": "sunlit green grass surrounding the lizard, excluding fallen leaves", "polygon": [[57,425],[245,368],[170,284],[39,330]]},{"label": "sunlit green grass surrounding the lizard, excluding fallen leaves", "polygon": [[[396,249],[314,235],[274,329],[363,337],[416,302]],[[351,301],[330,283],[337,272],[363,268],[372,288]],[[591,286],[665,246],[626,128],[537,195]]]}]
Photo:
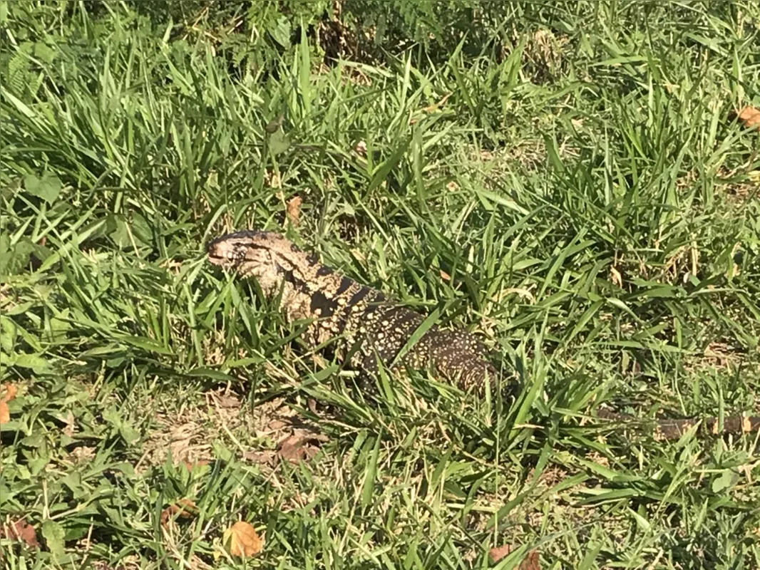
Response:
[{"label": "sunlit green grass surrounding the lizard, excluding fallen leaves", "polygon": [[[760,139],[731,118],[760,9],[508,14],[480,55],[321,67],[306,35],[0,2],[0,518],[43,543],[0,539],[6,568],[760,566],[756,435],[594,420],[760,410]],[[205,263],[245,227],[476,332],[515,401],[359,394]],[[326,441],[269,467],[283,417]]]}]

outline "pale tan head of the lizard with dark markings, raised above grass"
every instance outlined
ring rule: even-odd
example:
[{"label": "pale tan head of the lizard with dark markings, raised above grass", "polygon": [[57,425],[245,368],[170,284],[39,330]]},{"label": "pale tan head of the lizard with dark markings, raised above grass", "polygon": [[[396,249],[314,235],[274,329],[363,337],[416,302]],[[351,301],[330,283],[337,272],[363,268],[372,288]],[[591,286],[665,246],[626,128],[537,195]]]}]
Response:
[{"label": "pale tan head of the lizard with dark markings, raised above grass", "polygon": [[212,239],[206,245],[208,261],[238,277],[258,281],[266,294],[275,294],[283,281],[308,280],[316,264],[288,239],[274,232],[244,230]]}]

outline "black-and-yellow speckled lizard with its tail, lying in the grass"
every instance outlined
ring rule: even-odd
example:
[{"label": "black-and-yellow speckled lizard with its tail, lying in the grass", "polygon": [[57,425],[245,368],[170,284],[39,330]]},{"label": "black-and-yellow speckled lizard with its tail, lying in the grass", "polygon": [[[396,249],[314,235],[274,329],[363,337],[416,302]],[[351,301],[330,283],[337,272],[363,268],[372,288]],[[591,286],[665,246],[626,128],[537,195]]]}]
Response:
[{"label": "black-and-yellow speckled lizard with its tail, lying in the grass", "polygon": [[[407,347],[407,341],[425,321],[422,314],[334,271],[279,233],[227,233],[207,242],[206,253],[211,264],[241,279],[255,280],[264,296],[279,299],[279,309],[287,321],[308,321],[306,343],[311,347],[334,343],[337,358],[365,379],[377,374],[380,363],[391,372],[429,368],[465,391],[483,394],[489,384],[495,393],[496,367],[473,334],[434,324]],[[619,423],[633,420],[609,410],[600,410],[597,415]],[[641,423],[654,423],[655,439],[678,439],[698,420]],[[753,432],[760,429],[760,416],[726,417],[722,429],[720,421],[711,417],[701,428],[713,434]]]}]

